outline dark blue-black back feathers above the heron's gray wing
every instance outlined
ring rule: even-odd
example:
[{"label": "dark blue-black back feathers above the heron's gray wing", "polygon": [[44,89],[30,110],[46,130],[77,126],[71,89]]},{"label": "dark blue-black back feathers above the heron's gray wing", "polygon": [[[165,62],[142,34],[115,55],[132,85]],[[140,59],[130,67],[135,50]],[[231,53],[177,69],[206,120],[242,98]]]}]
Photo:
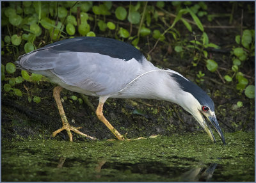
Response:
[{"label": "dark blue-black back feathers above the heron's gray wing", "polygon": [[46,45],[41,49],[47,49],[49,47],[51,47],[52,51],[57,52],[95,52],[111,56],[112,58],[120,58],[125,61],[135,58],[137,61],[142,62],[144,58],[143,54],[134,46],[111,38],[90,36],[77,37],[61,40],[59,42]]}]

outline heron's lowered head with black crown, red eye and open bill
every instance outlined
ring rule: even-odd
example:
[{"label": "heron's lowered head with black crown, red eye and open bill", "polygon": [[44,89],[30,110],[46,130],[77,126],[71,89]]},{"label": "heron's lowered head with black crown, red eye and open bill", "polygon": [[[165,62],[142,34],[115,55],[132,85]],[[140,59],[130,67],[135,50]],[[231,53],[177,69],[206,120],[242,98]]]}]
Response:
[{"label": "heron's lowered head with black crown, red eye and open bill", "polygon": [[211,127],[209,123],[207,123],[208,120],[218,132],[223,144],[225,145],[225,138],[214,113],[214,103],[212,102],[212,99],[199,86],[180,74],[171,74],[171,77],[177,82],[180,91],[177,92],[178,100],[176,103],[193,115],[196,121],[210,136],[212,142],[215,142]]}]

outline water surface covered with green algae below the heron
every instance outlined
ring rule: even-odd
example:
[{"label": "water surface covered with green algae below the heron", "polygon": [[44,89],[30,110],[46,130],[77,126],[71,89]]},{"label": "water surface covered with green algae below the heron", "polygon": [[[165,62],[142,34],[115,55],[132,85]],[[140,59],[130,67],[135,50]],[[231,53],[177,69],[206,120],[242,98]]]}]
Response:
[{"label": "water surface covered with green algae below the heron", "polygon": [[[225,138],[227,145],[212,143],[205,133],[79,143],[4,140],[2,180],[254,181],[254,133]],[[208,170],[212,176],[206,179]]]}]

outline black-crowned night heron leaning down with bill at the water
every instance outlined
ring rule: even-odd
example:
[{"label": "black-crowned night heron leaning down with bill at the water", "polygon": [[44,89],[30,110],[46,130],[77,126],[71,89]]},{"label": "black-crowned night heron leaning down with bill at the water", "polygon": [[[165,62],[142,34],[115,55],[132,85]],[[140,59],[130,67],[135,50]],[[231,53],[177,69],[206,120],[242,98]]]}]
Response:
[{"label": "black-crowned night heron leaning down with bill at the water", "polygon": [[116,131],[102,113],[108,98],[156,99],[179,104],[195,117],[215,142],[206,117],[225,144],[214,113],[214,103],[207,93],[178,72],[154,67],[132,45],[111,38],[71,38],[24,54],[19,57],[17,64],[23,70],[47,76],[53,83],[60,85],[54,88],[53,96],[63,127],[53,132],[53,137],[66,130],[70,141],[70,131],[92,138],[69,125],[60,100],[61,89],[66,88],[99,97],[96,114],[120,140],[124,140],[124,136]]}]

